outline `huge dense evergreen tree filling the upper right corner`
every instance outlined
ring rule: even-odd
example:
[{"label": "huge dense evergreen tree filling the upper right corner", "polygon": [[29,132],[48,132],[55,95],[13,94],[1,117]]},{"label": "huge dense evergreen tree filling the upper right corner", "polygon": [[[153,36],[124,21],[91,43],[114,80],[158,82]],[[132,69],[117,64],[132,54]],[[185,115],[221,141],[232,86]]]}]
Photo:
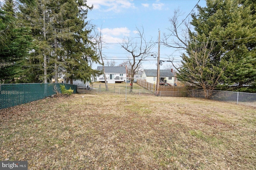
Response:
[{"label": "huge dense evergreen tree filling the upper right corner", "polygon": [[233,90],[256,91],[256,2],[253,0],[207,0],[192,15],[198,41],[214,41],[211,63],[228,63],[225,84]]}]

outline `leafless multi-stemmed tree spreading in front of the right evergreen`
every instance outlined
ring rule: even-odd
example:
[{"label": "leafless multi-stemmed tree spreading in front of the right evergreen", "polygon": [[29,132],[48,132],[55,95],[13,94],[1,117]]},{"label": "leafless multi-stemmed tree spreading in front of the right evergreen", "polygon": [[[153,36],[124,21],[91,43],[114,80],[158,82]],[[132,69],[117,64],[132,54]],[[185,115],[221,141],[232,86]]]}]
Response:
[{"label": "leafless multi-stemmed tree spreading in front of the right evergreen", "polygon": [[224,82],[224,70],[227,63],[219,66],[212,64],[211,57],[214,50],[214,41],[198,42],[196,38],[190,40],[186,53],[182,55],[182,68],[178,69],[179,80],[200,87],[204,90],[205,98],[212,96],[212,90]]}]

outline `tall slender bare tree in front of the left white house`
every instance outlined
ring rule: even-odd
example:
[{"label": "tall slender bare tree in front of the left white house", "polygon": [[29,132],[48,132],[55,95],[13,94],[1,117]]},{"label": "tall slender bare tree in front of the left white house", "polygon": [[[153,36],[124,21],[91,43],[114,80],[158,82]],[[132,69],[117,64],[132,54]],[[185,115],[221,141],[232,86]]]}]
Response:
[{"label": "tall slender bare tree in front of the left white house", "polygon": [[98,55],[100,55],[100,59],[102,61],[102,71],[103,71],[103,74],[104,74],[106,91],[108,91],[108,82],[107,82],[107,78],[106,78],[105,66],[104,66],[104,60],[103,60],[103,54],[102,54],[102,49],[104,48],[102,46],[102,43],[104,43],[104,40],[102,38],[101,28],[100,28],[99,32],[97,32],[94,29],[94,33],[95,33],[94,41],[96,42],[96,49],[97,49]]}]

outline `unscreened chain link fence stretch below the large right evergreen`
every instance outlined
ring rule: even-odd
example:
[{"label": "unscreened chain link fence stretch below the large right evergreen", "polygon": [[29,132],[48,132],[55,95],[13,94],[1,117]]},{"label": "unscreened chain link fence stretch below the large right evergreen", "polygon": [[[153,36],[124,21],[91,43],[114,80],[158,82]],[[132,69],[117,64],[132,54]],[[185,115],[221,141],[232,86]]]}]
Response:
[{"label": "unscreened chain link fence stretch below the large right evergreen", "polygon": [[[212,95],[210,96],[211,93]],[[206,92],[204,92],[204,90],[189,90],[187,94],[188,97],[205,98],[206,96],[211,100],[256,107],[255,93],[228,92],[218,90],[212,90],[212,92],[210,90],[207,90]]]}]

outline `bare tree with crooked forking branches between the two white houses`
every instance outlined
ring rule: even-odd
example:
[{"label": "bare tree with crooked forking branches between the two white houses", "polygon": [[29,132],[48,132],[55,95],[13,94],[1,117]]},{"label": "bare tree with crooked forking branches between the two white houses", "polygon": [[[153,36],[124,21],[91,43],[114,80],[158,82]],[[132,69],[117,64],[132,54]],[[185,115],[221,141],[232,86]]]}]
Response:
[{"label": "bare tree with crooked forking branches between the two white houses", "polygon": [[[123,43],[120,44],[123,49],[125,49],[130,55],[131,58],[128,58],[128,61],[131,66],[131,76],[134,77],[134,74],[140,68],[142,62],[146,57],[148,57],[153,52],[151,51],[154,47],[154,42],[152,39],[150,41],[146,41],[146,37],[144,35],[144,28],[142,30],[136,27],[138,32],[138,37],[123,39]],[[130,92],[132,92],[133,81],[131,81]]]}]

